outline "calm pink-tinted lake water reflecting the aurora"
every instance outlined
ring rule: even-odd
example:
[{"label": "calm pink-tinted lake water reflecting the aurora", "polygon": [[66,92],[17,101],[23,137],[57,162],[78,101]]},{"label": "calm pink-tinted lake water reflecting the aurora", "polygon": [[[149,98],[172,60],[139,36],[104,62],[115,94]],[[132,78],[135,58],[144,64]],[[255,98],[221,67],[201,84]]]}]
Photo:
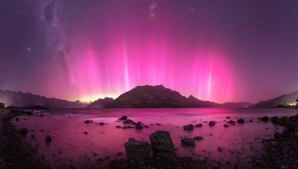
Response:
[{"label": "calm pink-tinted lake water reflecting the aurora", "polygon": [[[54,111],[54,113],[52,113]],[[37,113],[39,114],[39,113]],[[62,109],[43,112],[44,117],[21,116],[13,121],[17,128],[26,127],[26,139],[44,153],[53,167],[58,165],[74,165],[76,167],[98,167],[96,159],[110,156],[112,159],[125,158],[124,142],[132,137],[149,141],[149,135],[156,130],[170,132],[171,138],[181,156],[194,158],[212,157],[226,164],[235,163],[246,167],[250,156],[261,149],[262,139],[273,137],[274,130],[282,132],[283,128],[269,123],[259,123],[256,118],[262,116],[296,115],[295,109],[225,109],[225,108],[148,108],[148,109]],[[48,115],[47,115],[48,114]],[[51,114],[51,115],[50,115]],[[134,121],[142,121],[149,128],[143,130],[121,129],[118,118],[126,115]],[[71,116],[71,117],[69,117]],[[230,116],[231,119],[226,119]],[[243,118],[252,119],[252,123],[237,124],[224,128],[225,121]],[[26,120],[24,120],[26,119]],[[85,124],[85,120],[93,123]],[[210,127],[204,121],[215,120],[218,123]],[[104,122],[105,125],[95,123]],[[153,123],[154,125],[150,125]],[[155,125],[160,123],[162,125]],[[193,131],[183,130],[183,125],[199,124]],[[268,128],[268,129],[265,129]],[[277,129],[278,128],[278,129]],[[32,130],[32,131],[31,131]],[[43,131],[41,131],[43,130]],[[87,135],[83,134],[88,132]],[[30,137],[31,134],[35,138]],[[50,134],[52,142],[45,143]],[[202,136],[204,140],[196,141],[195,147],[181,146],[182,137]],[[223,152],[219,152],[221,147]],[[116,156],[122,152],[124,155]],[[96,153],[97,155],[94,155]],[[106,162],[107,163],[107,162]]]}]

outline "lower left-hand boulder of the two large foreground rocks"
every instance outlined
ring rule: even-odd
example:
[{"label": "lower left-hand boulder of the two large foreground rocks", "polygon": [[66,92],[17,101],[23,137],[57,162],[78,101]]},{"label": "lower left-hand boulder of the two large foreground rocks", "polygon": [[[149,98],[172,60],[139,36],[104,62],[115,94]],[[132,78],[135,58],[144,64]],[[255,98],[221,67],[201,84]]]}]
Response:
[{"label": "lower left-hand boulder of the two large foreground rocks", "polygon": [[145,160],[149,158],[151,145],[147,141],[139,141],[130,138],[124,143],[126,157],[132,160]]}]

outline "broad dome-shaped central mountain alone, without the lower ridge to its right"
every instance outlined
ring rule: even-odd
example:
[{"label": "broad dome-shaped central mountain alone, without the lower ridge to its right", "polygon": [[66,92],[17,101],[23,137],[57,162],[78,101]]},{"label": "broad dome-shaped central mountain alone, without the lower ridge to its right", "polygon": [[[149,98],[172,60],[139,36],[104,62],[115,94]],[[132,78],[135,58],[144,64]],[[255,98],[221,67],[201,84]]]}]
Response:
[{"label": "broad dome-shaped central mountain alone, without the lower ridge to its right", "polygon": [[121,94],[107,107],[190,107],[190,104],[185,96],[163,85],[145,85]]}]

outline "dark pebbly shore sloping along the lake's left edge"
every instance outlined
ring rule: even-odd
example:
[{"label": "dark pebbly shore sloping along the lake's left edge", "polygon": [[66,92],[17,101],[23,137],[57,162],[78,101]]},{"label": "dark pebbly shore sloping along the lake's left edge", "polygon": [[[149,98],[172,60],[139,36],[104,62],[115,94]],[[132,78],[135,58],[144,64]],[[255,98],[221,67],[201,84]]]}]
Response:
[{"label": "dark pebbly shore sloping along the lake's left edge", "polygon": [[11,119],[23,111],[0,114],[0,168],[1,169],[51,169],[43,155],[25,140],[26,135],[11,124]]}]

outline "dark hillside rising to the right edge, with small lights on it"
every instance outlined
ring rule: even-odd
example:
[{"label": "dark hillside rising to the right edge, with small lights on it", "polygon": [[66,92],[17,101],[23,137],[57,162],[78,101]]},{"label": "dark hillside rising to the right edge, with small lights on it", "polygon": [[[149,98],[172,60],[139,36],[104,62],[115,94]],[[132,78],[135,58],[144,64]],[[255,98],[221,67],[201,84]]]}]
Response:
[{"label": "dark hillside rising to the right edge, with small lights on it", "polygon": [[297,98],[298,98],[298,90],[289,94],[283,94],[279,97],[276,97],[267,101],[260,101],[250,107],[272,108],[272,107],[277,107],[278,105],[281,105],[281,104],[294,103]]}]

